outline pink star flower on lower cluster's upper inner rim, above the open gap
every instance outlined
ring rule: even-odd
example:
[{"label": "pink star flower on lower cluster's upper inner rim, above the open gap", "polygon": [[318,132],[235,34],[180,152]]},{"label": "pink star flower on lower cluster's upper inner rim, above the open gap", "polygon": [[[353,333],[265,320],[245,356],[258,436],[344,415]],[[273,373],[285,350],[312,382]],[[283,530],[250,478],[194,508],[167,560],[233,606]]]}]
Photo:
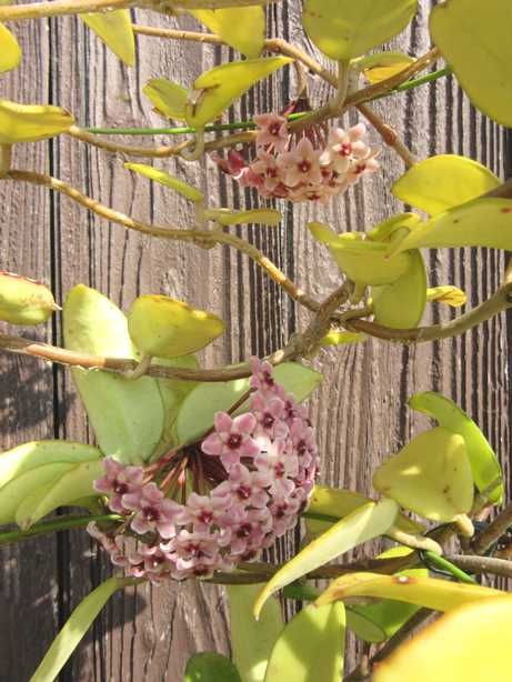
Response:
[{"label": "pink star flower on lower cluster's upper inner rim, above the open gap", "polygon": [[218,412],[214,418],[214,431],[202,442],[205,454],[219,455],[224,467],[240,462],[241,457],[254,457],[259,453],[258,444],[251,438],[255,427],[253,414],[240,414],[232,419],[227,412]]}]

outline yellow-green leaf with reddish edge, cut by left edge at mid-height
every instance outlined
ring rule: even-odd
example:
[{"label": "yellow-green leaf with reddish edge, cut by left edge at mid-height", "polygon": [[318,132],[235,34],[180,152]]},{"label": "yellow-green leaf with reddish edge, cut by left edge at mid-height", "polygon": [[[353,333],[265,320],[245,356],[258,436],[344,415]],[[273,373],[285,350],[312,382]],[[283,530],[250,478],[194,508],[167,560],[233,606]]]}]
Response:
[{"label": "yellow-green leaf with reddish edge, cut by left edge at mid-height", "polygon": [[40,324],[59,307],[41,282],[12,272],[0,272],[0,320],[11,324]]}]

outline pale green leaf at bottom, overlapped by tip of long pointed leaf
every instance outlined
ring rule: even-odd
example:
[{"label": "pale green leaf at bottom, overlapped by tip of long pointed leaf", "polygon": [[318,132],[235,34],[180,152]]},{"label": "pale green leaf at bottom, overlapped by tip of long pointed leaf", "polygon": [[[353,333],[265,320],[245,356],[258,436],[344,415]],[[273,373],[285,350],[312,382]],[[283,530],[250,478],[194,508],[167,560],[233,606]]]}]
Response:
[{"label": "pale green leaf at bottom, overlapped by tip of long pointed leaf", "polygon": [[284,623],[279,600],[270,599],[260,620],[252,615],[259,585],[227,588],[231,615],[231,651],[242,682],[263,682],[270,653]]}]

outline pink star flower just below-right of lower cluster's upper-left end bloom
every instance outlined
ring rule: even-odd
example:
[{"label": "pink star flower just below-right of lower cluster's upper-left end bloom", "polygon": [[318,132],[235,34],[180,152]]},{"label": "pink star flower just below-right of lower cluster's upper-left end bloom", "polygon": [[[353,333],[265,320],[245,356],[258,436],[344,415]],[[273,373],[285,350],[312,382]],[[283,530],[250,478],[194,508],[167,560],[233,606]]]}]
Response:
[{"label": "pink star flower just below-right of lower cluster's upper-left end bloom", "polygon": [[148,483],[140,492],[123,497],[127,509],[135,512],[130,526],[143,535],[157,531],[162,538],[175,534],[175,523],[183,519],[183,508],[163,497],[155,483]]}]

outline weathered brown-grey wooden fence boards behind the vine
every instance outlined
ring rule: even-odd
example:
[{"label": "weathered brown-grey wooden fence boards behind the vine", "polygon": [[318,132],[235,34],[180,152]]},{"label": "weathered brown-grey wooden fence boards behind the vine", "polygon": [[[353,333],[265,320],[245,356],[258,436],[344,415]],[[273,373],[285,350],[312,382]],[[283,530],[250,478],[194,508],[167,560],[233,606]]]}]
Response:
[{"label": "weathered brown-grey wooden fence boards behind the vine", "polygon": [[[429,47],[430,2],[394,49],[419,54]],[[269,30],[308,50],[297,0],[269,8]],[[174,26],[175,21],[135,12],[140,23]],[[183,28],[197,24],[180,19]],[[73,111],[83,126],[160,126],[141,94],[151,77],[167,76],[191,83],[197,74],[225,59],[227,49],[138,39],[138,66],[127,70],[77,18],[17,27],[24,50],[20,70],[2,77],[1,96],[28,102],[52,101]],[[325,87],[309,78],[314,102]],[[270,79],[250,93],[230,116],[279,110],[293,97],[294,77]],[[453,79],[375,104],[388,122],[404,134],[414,153],[464,153],[502,177],[510,174],[510,139],[476,113]],[[355,118],[351,114],[350,120]],[[375,142],[378,138],[374,137]],[[161,140],[157,140],[161,141]],[[148,141],[150,143],[150,141]],[[17,167],[50,170],[77,188],[137,218],[187,225],[191,214],[183,200],[161,187],[150,187],[122,168],[122,159],[82,143],[59,139],[17,150]],[[188,166],[157,162],[200,187],[212,205],[258,205],[211,161]],[[403,172],[400,159],[384,150],[382,173],[332,205],[282,204],[280,229],[242,229],[298,283],[321,298],[339,282],[327,251],[308,234],[308,220],[321,219],[335,229],[361,230],[400,210],[388,191]],[[62,300],[83,282],[127,309],[139,293],[167,293],[223,315],[230,332],[204,353],[204,363],[238,361],[281,345],[307,323],[281,291],[240,254],[225,249],[203,251],[184,244],[150,241],[84,213],[69,200],[51,198],[39,188],[0,188],[2,229],[0,269],[46,279]],[[435,251],[429,254],[430,281],[454,283],[468,291],[471,304],[500,283],[503,255],[489,250]],[[449,319],[432,309],[428,320]],[[61,341],[59,318],[34,335]],[[317,365],[325,380],[310,402],[322,453],[322,480],[334,485],[371,490],[374,465],[428,423],[411,413],[406,399],[434,389],[453,397],[481,424],[496,448],[509,480],[510,413],[509,334],[504,318],[463,338],[433,345],[400,347],[380,341],[322,353]],[[1,357],[0,410],[3,448],[36,438],[90,440],[83,410],[70,375],[30,359]],[[271,552],[282,560],[298,546],[291,534]],[[0,664],[2,675],[28,680],[70,611],[110,568],[83,532],[31,541],[2,551],[0,569]],[[98,619],[61,675],[70,681],[181,680],[187,659],[197,651],[229,652],[229,625],[222,590],[209,585],[143,586],[117,595]],[[351,650],[353,653],[353,649]]]}]

